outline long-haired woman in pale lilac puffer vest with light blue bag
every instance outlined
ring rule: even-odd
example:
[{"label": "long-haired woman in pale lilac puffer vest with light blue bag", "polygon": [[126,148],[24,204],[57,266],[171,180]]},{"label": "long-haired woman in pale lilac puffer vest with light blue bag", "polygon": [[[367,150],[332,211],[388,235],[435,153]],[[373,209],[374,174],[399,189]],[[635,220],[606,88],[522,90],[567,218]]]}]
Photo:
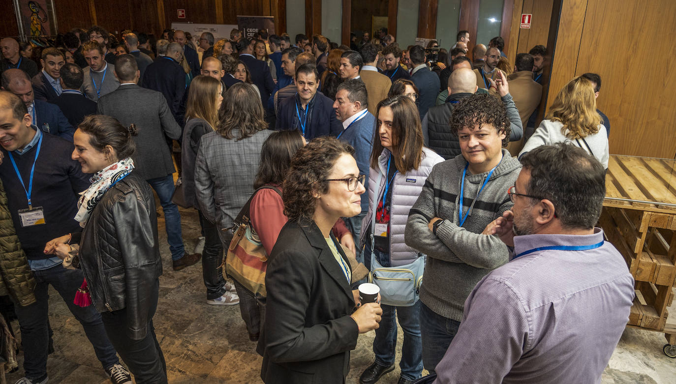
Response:
[{"label": "long-haired woman in pale lilac puffer vest with light blue bag", "polygon": [[443,158],[423,147],[423,130],[416,105],[397,95],[378,103],[377,139],[373,141],[368,176],[368,214],[360,245],[372,282],[381,287],[383,321],[373,341],[375,362],[361,383],[375,383],[394,369],[397,322],[404,330],[400,383],[410,383],[423,371],[423,345],[418,320],[418,286],[425,260],[404,243],[408,212],[418,199],[432,167]]}]

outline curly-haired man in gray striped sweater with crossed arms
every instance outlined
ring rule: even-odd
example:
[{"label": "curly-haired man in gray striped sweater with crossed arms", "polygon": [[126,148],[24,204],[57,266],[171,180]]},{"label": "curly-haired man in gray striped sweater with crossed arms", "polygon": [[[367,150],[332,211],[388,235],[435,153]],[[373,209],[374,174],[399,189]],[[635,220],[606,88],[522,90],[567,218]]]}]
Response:
[{"label": "curly-haired man in gray striped sweater with crossed arms", "polygon": [[420,333],[423,364],[430,373],[458,331],[465,299],[490,270],[508,260],[507,245],[482,232],[512,208],[507,190],[521,170],[502,148],[508,143],[510,120],[498,98],[463,98],[455,106],[450,129],[461,154],[433,168],[405,233],[407,245],[427,254]]}]

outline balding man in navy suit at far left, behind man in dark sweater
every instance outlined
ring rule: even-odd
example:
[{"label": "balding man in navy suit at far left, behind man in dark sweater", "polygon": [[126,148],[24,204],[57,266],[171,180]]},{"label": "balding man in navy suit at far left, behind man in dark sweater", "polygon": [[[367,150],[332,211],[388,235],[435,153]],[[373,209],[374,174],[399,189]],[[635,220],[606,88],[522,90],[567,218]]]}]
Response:
[{"label": "balding man in navy suit at far left, behind man in dark sweater", "polygon": [[35,99],[32,83],[26,72],[16,68],[3,72],[2,89],[14,93],[24,102],[34,126],[72,143],[75,128],[57,105]]}]

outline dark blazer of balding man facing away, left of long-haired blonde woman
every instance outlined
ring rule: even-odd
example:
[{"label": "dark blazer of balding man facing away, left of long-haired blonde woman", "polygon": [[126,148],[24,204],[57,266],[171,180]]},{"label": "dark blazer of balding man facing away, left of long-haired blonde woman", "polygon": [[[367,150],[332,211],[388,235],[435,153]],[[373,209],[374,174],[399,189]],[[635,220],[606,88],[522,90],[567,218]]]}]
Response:
[{"label": "dark blazer of balding man facing away, left of long-haired blonde woman", "polygon": [[180,101],[183,100],[186,90],[183,67],[171,57],[160,56],[153,64],[145,68],[142,84],[143,88],[152,89],[164,95],[174,119],[180,126],[183,126],[183,121],[180,121],[178,116]]}]

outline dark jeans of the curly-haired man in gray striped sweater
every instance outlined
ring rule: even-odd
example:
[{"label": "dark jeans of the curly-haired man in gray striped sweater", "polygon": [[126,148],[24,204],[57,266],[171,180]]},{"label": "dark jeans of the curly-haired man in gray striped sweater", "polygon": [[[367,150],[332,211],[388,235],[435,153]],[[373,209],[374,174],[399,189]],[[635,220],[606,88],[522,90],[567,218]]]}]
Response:
[{"label": "dark jeans of the curly-haired man in gray striped sweater", "polygon": [[460,322],[443,317],[422,304],[420,306],[420,327],[423,334],[423,364],[429,373],[435,373],[437,364],[446,354],[448,346],[458,333]]}]

